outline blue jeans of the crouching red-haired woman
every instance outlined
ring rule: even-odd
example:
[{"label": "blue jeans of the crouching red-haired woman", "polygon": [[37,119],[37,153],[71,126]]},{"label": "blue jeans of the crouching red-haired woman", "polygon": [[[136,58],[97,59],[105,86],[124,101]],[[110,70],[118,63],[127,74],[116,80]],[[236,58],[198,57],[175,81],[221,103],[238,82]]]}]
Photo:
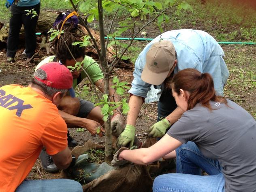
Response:
[{"label": "blue jeans of the crouching red-haired woman", "polygon": [[[176,149],[176,173],[156,177],[154,192],[224,192],[225,180],[217,160],[204,157],[194,142]],[[209,176],[202,176],[202,169]]]}]

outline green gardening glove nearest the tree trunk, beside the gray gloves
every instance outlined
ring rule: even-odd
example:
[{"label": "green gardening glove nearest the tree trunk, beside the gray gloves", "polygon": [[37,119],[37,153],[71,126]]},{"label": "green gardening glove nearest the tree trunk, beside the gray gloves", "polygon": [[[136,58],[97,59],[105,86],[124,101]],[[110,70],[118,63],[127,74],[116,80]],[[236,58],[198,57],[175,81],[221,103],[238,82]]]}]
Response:
[{"label": "green gardening glove nearest the tree trunk, beside the gray gloves", "polygon": [[124,131],[117,138],[117,149],[120,147],[125,147],[129,144],[129,147],[132,147],[135,137],[136,128],[132,125],[126,125]]}]

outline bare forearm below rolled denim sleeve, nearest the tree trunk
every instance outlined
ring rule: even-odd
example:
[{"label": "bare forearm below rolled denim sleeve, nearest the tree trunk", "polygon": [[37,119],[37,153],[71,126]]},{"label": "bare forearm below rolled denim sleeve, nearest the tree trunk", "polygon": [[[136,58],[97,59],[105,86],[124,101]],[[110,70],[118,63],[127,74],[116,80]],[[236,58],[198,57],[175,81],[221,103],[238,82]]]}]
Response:
[{"label": "bare forearm below rolled denim sleeve, nearest the tree trunk", "polygon": [[135,127],[137,117],[141,110],[142,98],[140,96],[132,95],[129,101],[130,110],[127,114],[127,124]]}]

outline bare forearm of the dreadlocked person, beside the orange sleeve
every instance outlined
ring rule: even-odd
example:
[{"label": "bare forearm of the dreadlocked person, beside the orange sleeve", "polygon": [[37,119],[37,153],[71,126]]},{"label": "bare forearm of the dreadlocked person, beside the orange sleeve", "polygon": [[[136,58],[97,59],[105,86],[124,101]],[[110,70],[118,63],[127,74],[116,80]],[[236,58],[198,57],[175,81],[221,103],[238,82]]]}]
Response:
[{"label": "bare forearm of the dreadlocked person, beside the orange sleeve", "polygon": [[64,121],[66,122],[66,124],[68,125],[68,128],[73,128],[73,127],[85,128],[85,124],[84,124],[84,121],[86,120],[85,118],[76,117],[74,115],[65,113],[64,111],[61,111],[61,110],[59,110],[59,113],[61,117],[64,119]]}]

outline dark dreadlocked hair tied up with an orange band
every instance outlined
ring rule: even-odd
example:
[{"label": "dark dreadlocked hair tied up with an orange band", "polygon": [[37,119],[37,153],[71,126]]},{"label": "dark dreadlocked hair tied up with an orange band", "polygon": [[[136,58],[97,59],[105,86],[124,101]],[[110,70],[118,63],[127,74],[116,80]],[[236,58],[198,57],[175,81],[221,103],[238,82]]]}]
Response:
[{"label": "dark dreadlocked hair tied up with an orange band", "polygon": [[[62,26],[62,22],[58,24],[56,27],[57,29],[60,30]],[[78,34],[77,28],[75,28],[71,23],[64,23],[62,33],[60,35],[60,38],[56,37],[53,40],[53,51],[60,62],[62,64],[66,63],[66,60],[72,60],[72,59],[77,59],[81,57],[85,57],[85,47],[79,47],[79,45],[72,45],[75,41],[81,41],[81,35]],[[69,51],[69,50],[70,51]],[[72,55],[74,58],[72,57]]]}]

